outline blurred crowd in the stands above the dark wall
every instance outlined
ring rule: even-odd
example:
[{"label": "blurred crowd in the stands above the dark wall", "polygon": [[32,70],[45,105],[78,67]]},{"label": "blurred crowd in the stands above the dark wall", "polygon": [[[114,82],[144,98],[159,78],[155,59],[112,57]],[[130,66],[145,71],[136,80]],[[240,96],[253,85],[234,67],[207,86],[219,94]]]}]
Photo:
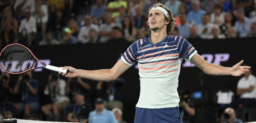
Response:
[{"label": "blurred crowd in the stands above the dark wall", "polygon": [[0,46],[134,42],[150,36],[157,2],[176,17],[175,36],[256,36],[254,0],[0,0]]}]

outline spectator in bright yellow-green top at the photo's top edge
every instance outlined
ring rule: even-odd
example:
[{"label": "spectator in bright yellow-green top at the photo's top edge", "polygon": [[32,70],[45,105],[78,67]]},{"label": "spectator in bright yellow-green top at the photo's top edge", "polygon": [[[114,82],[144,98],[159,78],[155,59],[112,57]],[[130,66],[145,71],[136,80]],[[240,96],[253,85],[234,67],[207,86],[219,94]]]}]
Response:
[{"label": "spectator in bright yellow-green top at the photo's top edge", "polygon": [[[120,15],[119,7],[124,6],[127,9],[128,5],[126,0],[113,0],[108,3],[107,11],[112,12],[113,15]],[[112,17],[113,18],[113,17]]]}]

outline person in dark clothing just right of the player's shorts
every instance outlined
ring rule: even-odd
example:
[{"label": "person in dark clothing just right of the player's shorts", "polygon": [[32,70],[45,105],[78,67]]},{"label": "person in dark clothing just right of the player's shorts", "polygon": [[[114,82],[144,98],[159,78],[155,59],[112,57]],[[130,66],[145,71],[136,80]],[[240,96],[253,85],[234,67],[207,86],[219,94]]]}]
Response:
[{"label": "person in dark clothing just right of the player's shorts", "polygon": [[194,103],[190,98],[190,92],[179,91],[180,97],[180,113],[182,116],[183,123],[193,123],[193,116],[195,115]]}]

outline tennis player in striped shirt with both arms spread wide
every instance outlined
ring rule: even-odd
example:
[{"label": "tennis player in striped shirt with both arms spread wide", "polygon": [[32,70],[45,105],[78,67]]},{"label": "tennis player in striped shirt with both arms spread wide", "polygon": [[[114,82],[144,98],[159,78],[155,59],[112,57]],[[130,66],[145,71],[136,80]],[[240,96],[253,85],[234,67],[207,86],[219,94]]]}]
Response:
[{"label": "tennis player in striped shirt with both arms spread wide", "polygon": [[65,66],[62,68],[69,69],[69,73],[59,73],[65,77],[113,81],[137,61],[141,92],[134,123],[182,123],[177,92],[181,59],[209,75],[241,76],[251,68],[241,66],[243,60],[233,67],[206,62],[186,39],[170,35],[175,26],[170,9],[156,3],[148,11],[151,36],[134,42],[111,69],[82,70]]}]

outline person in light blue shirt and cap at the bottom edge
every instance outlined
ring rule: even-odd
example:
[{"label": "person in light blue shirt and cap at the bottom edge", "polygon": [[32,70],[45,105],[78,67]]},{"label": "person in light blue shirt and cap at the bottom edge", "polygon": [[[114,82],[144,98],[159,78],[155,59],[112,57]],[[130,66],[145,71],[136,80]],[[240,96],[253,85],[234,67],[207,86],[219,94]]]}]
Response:
[{"label": "person in light blue shirt and cap at the bottom edge", "polygon": [[89,114],[89,123],[117,123],[114,114],[104,108],[103,98],[95,99],[95,110]]}]

